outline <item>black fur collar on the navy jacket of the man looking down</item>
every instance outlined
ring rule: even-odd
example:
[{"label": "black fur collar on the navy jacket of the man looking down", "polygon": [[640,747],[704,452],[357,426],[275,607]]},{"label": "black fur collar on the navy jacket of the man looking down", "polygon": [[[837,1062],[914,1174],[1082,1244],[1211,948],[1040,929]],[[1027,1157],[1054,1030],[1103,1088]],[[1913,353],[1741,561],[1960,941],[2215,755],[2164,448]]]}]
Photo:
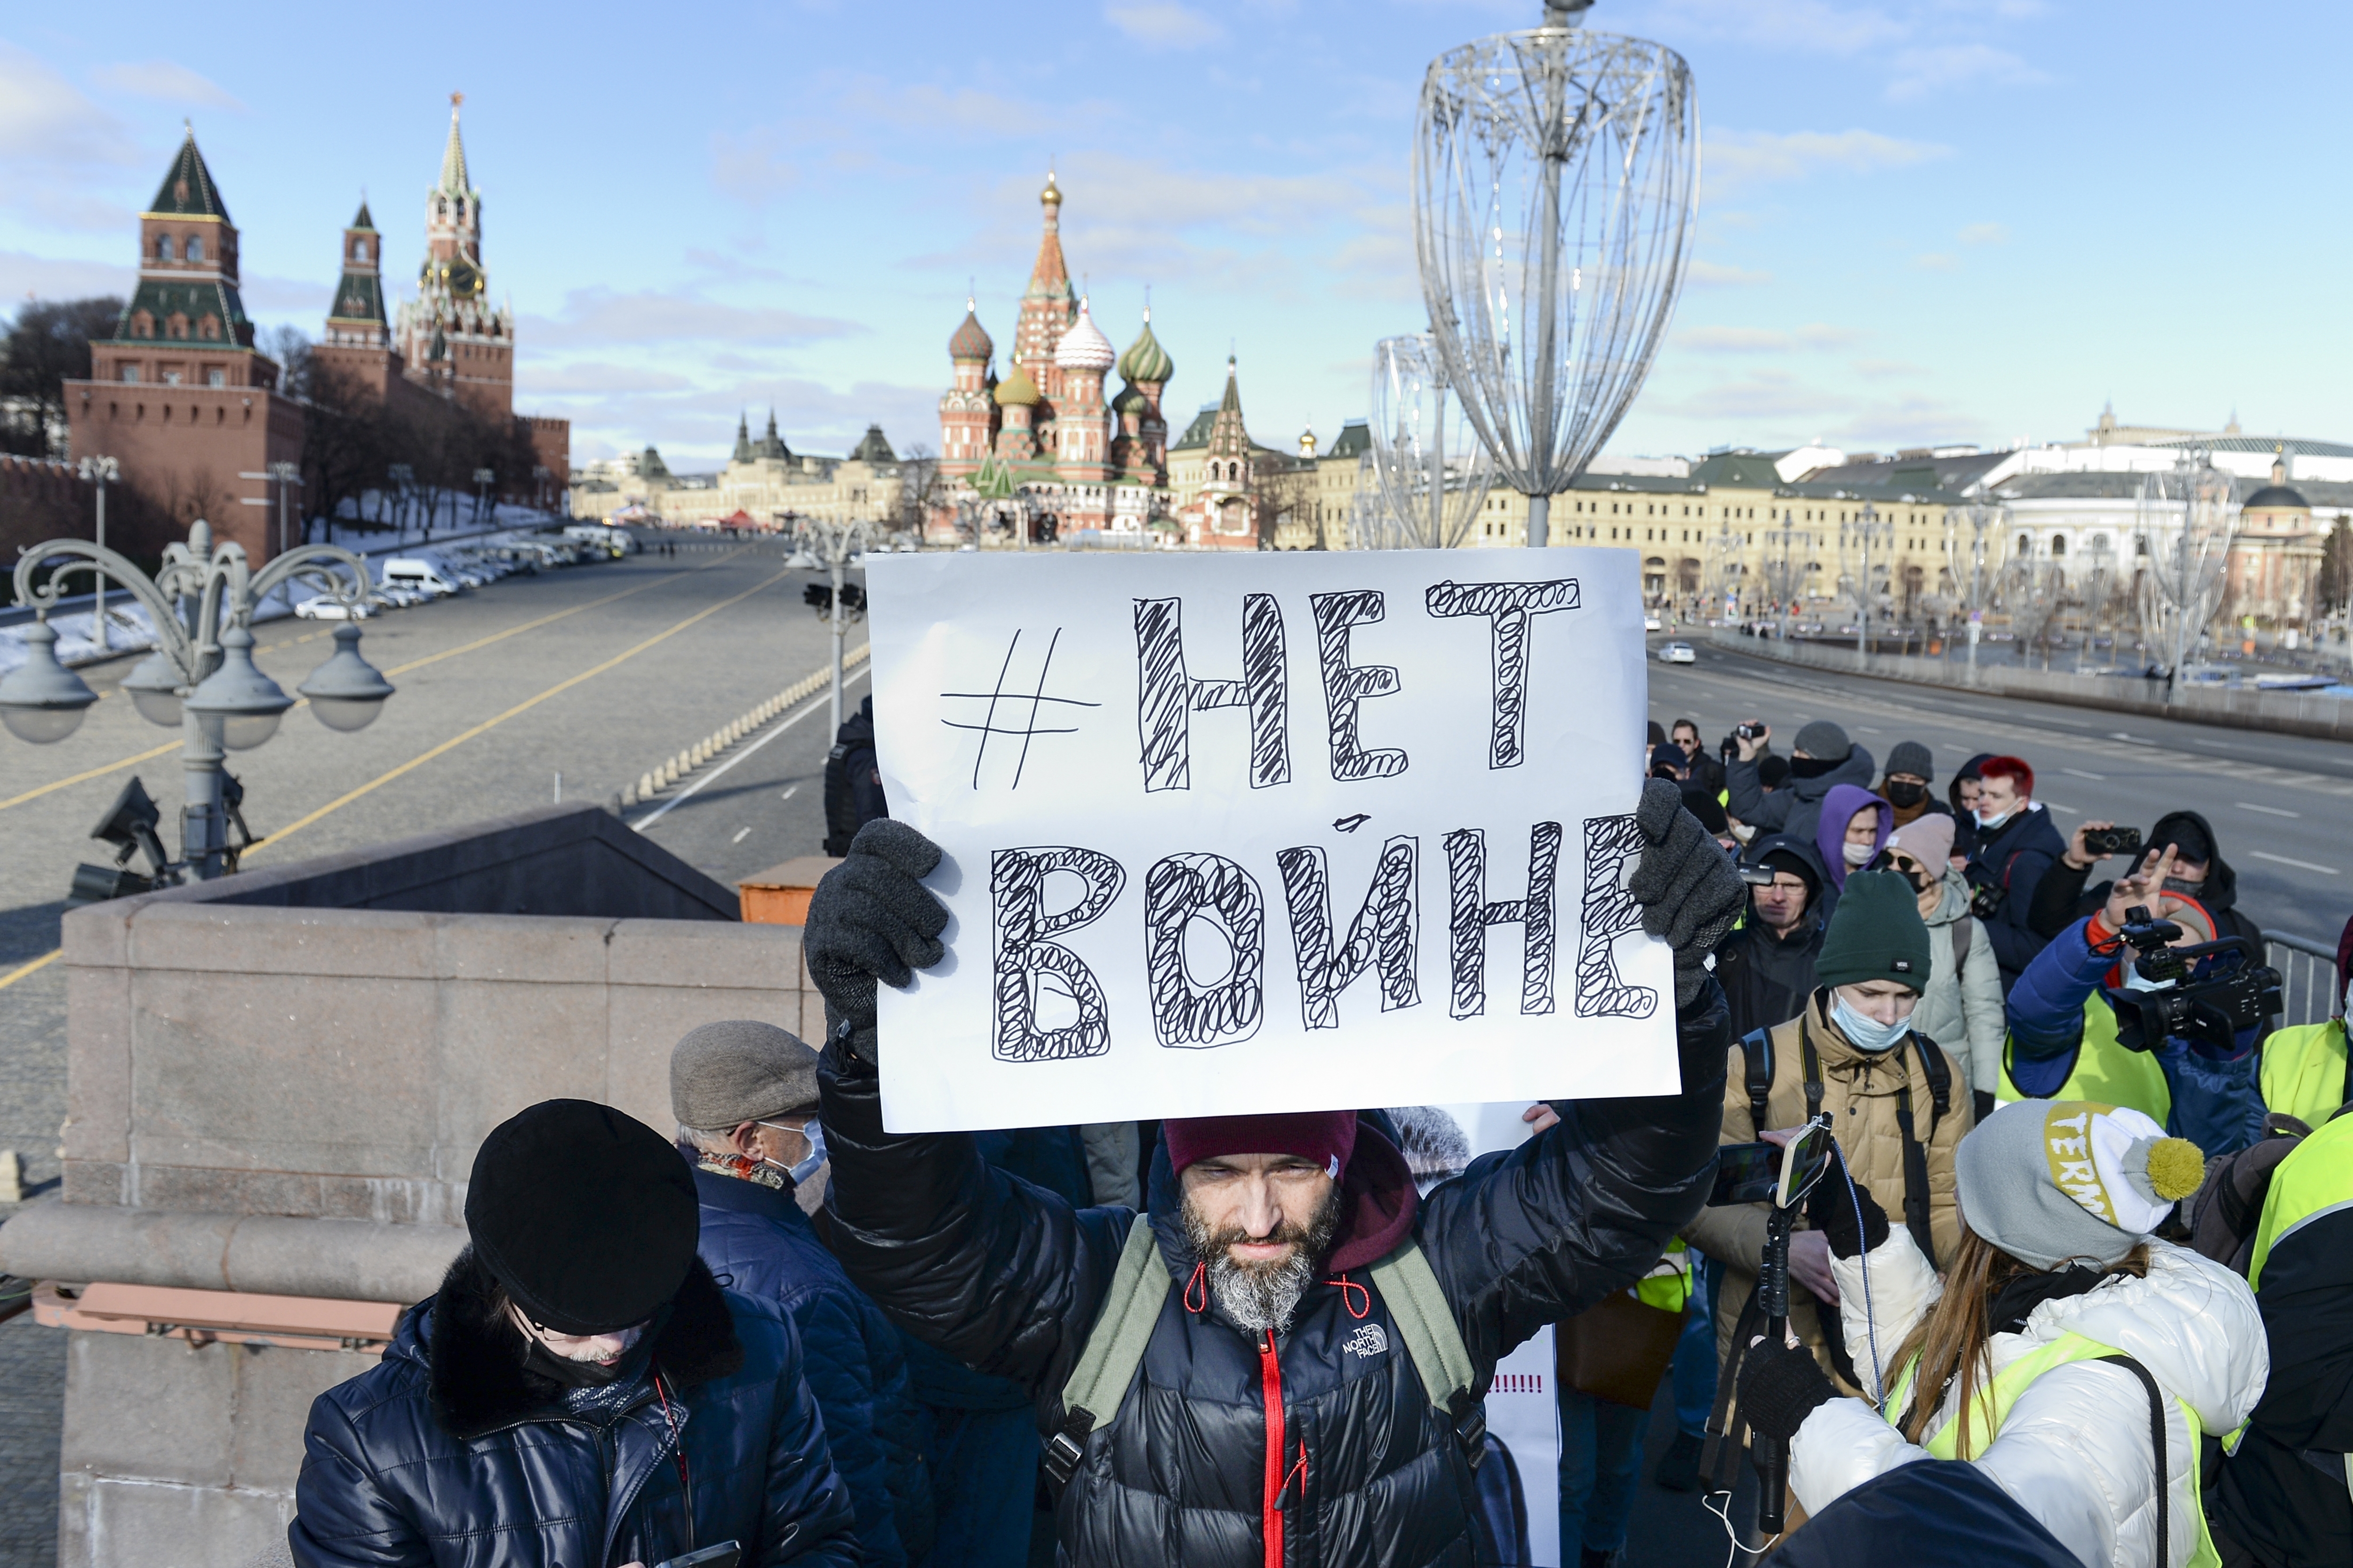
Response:
[{"label": "black fur collar on the navy jacket of the man looking down", "polygon": [[[522,1352],[522,1335],[499,1312],[499,1281],[468,1246],[449,1265],[442,1288],[409,1307],[391,1354],[426,1363],[433,1420],[454,1439],[473,1439],[544,1415],[562,1396],[562,1385],[529,1371]],[[654,1366],[678,1387],[744,1366],[727,1298],[701,1258],[671,1298],[671,1319],[654,1340]]]}]

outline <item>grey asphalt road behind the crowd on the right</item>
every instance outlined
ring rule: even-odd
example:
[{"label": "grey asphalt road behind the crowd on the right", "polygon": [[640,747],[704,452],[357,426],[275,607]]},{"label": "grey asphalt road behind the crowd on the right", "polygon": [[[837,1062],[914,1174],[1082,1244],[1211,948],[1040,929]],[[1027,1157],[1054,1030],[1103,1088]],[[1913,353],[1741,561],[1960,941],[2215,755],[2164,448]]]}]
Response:
[{"label": "grey asphalt road behind the crowd on the right", "polygon": [[1694,649],[1694,665],[1652,661],[1649,717],[1699,719],[1711,752],[1741,719],[1772,724],[1781,755],[1798,726],[1835,719],[1882,766],[1897,741],[1925,743],[1939,795],[1977,752],[2009,752],[2035,769],[2035,799],[2061,835],[2087,816],[2146,832],[2167,811],[2200,811],[2238,872],[2240,907],[2264,931],[2334,947],[2353,914],[2353,745],[1859,679],[1704,642]]}]

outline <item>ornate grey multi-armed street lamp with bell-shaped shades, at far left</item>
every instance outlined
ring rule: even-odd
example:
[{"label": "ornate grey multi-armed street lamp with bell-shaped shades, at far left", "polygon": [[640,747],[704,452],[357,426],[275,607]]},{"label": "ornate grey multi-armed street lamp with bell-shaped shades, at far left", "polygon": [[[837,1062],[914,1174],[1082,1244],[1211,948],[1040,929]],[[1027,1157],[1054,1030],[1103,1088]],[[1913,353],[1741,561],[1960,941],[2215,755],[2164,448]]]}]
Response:
[{"label": "ornate grey multi-armed street lamp with bell-shaped shades, at far left", "polygon": [[[47,578],[38,581],[42,571]],[[165,550],[153,578],[113,550],[78,538],[33,545],[16,562],[16,599],[35,614],[26,630],[26,661],[0,679],[0,724],[33,745],[71,736],[99,701],[80,675],[56,661],[56,632],[49,628],[49,611],[75,571],[113,578],[155,625],[155,651],[139,661],[122,689],[132,693],[139,717],[181,729],[188,795],[172,879],[235,870],[221,762],[226,752],[252,750],[275,736],[278,719],[294,705],[278,682],[254,668],[254,635],[247,630],[254,607],[294,578],[355,607],[367,595],[367,564],[336,545],[296,545],[249,571],[245,545],[214,545],[212,524],[202,520],[188,529],[188,543]],[[348,585],[341,574],[351,576]],[[299,691],[327,729],[353,731],[381,712],[393,684],[360,658],[360,628],[344,621],[334,630],[334,654]]]}]

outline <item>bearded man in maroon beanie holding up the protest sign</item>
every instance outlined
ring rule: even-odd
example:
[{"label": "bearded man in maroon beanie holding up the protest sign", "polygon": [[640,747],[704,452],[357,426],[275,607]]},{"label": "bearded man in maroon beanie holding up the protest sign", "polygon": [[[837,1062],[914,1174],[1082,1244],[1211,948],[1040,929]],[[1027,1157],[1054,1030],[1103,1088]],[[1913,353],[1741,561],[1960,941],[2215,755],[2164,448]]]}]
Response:
[{"label": "bearded man in maroon beanie holding up the protest sign", "polygon": [[1645,785],[1635,823],[1680,1095],[1560,1103],[1426,1199],[1355,1112],[1172,1119],[1141,1218],[991,1171],[965,1133],[882,1128],[875,983],[946,957],[946,910],[920,882],[934,844],[859,832],[805,938],[828,1241],[911,1333],[1035,1392],[1064,1561],[1492,1561],[1473,1469],[1494,1363],[1647,1272],[1715,1166],[1729,1032],[1706,959],[1744,889],[1675,785]]}]

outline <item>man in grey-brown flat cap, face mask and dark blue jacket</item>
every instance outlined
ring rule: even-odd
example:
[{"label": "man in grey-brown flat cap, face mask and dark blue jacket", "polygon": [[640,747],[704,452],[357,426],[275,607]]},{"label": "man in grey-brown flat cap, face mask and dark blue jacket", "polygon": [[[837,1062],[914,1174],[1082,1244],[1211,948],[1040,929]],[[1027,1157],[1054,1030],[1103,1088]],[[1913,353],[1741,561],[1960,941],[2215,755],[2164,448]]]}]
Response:
[{"label": "man in grey-brown flat cap, face mask and dark blue jacket", "polygon": [[906,1349],[798,1201],[826,1159],[816,1051],[772,1023],[706,1023],[671,1051],[671,1114],[678,1150],[694,1164],[701,1260],[729,1288],[774,1302],[800,1333],[866,1561],[925,1561],[929,1422],[908,1387]]}]

